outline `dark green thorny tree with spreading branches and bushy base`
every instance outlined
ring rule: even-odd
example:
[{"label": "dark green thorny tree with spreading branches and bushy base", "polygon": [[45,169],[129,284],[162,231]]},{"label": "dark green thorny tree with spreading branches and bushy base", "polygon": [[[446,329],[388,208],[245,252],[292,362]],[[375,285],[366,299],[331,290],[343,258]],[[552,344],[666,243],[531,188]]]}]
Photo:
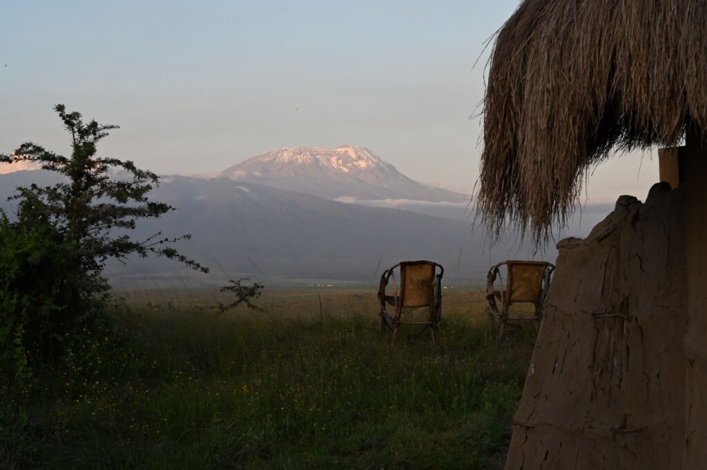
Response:
[{"label": "dark green thorny tree with spreading branches and bushy base", "polygon": [[67,113],[64,105],[54,110],[71,134],[69,157],[32,142],[0,154],[0,162],[35,163],[64,177],[53,186],[18,187],[8,198],[18,201],[16,220],[1,214],[0,345],[6,345],[6,363],[13,355],[17,363],[22,347],[30,356],[57,356],[67,336],[100,314],[110,290],[102,275],[109,258],[155,254],[208,272],[171,246],[189,235],[130,236],[138,219],[174,208],[148,199],[158,184],[156,174],[132,161],[98,156],[97,143],[118,127],[83,122],[80,113]]}]

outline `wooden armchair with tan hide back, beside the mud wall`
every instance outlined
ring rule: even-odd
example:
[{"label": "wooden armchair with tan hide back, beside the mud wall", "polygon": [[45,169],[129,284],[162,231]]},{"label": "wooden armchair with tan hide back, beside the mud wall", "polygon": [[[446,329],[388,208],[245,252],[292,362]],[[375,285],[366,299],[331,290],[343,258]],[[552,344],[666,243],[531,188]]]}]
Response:
[{"label": "wooden armchair with tan hide back, beside the mud wall", "polygon": [[[503,288],[501,266],[506,266],[506,288]],[[509,322],[537,322],[538,327],[542,321],[542,305],[550,286],[550,278],[554,271],[554,264],[544,261],[504,261],[489,269],[486,276],[486,301],[489,306],[491,327],[496,327],[496,318],[501,320],[498,330],[498,341],[503,341],[503,335],[510,325]],[[500,281],[501,289],[496,290],[494,284]],[[496,300],[501,302],[498,308]],[[534,306],[534,315],[510,316],[510,306],[518,303],[530,303]]]}]

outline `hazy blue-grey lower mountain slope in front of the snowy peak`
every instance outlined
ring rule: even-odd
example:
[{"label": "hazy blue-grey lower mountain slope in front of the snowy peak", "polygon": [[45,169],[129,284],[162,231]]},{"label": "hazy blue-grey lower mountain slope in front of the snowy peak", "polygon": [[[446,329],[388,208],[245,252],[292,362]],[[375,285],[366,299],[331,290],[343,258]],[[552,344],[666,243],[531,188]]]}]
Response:
[{"label": "hazy blue-grey lower mountain slope in front of the snowy peak", "polygon": [[[0,206],[18,185],[57,182],[57,175],[21,171],[0,175]],[[448,282],[483,280],[491,264],[502,259],[532,259],[511,240],[489,249],[468,223],[410,211],[343,204],[309,194],[288,192],[262,184],[228,178],[204,180],[163,177],[151,199],[177,208],[158,220],[139,221],[135,237],[157,232],[164,236],[192,234],[177,247],[211,266],[216,274],[252,273],[257,276],[336,278],[375,283],[376,274],[396,262],[430,259],[445,266]],[[611,207],[589,207],[583,235]],[[554,247],[536,259],[554,259]],[[163,259],[112,263],[112,280],[158,274],[187,276],[189,271]],[[223,276],[221,276],[223,277]]]}]

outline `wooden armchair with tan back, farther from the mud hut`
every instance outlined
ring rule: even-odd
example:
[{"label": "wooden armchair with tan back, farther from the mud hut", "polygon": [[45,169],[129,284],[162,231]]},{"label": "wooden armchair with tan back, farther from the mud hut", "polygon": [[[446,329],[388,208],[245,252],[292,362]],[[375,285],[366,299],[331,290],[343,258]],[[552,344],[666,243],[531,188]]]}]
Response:
[{"label": "wooden armchair with tan back, farther from the mud hut", "polygon": [[[439,269],[439,272],[438,272]],[[399,292],[396,282],[396,270],[399,273]],[[398,329],[402,324],[419,327],[415,334],[421,334],[426,329],[430,330],[432,344],[438,324],[442,321],[442,276],[444,268],[437,263],[429,261],[401,262],[387,269],[380,276],[378,286],[378,299],[380,300],[380,331],[392,331],[391,345],[395,345]],[[393,295],[386,295],[390,278],[392,278]],[[385,311],[385,305],[395,307],[395,315]],[[404,308],[428,307],[429,316],[425,321],[409,321],[402,318]]]}]

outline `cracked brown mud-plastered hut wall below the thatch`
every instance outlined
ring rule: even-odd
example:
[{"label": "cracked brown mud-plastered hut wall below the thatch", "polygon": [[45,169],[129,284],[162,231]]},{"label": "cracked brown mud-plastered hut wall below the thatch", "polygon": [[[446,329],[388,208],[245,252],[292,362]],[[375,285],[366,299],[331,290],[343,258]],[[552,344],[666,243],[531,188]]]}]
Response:
[{"label": "cracked brown mud-plastered hut wall below the thatch", "polygon": [[684,199],[621,196],[559,242],[506,470],[683,468]]}]

